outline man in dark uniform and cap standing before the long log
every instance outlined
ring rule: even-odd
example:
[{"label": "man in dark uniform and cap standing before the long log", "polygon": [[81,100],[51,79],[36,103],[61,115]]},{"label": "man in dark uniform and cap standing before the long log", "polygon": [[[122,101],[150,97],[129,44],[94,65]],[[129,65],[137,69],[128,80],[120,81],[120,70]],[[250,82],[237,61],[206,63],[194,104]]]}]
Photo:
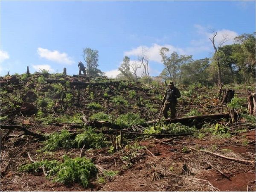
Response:
[{"label": "man in dark uniform and cap standing before the long log", "polygon": [[171,108],[171,118],[175,119],[177,98],[180,98],[180,91],[174,86],[172,81],[168,85],[169,88],[166,89],[166,93],[162,101],[162,105],[164,105],[163,116],[167,119],[167,111]]}]

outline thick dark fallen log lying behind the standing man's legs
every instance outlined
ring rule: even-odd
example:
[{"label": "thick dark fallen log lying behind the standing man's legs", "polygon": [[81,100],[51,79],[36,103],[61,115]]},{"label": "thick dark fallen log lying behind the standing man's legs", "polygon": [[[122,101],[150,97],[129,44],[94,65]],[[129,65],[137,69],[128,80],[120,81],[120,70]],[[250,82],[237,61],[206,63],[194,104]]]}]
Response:
[{"label": "thick dark fallen log lying behind the standing man's legs", "polygon": [[[181,123],[184,125],[190,125],[193,123],[193,121],[204,121],[204,120],[209,120],[209,119],[221,119],[221,118],[229,118],[230,115],[229,113],[215,113],[215,114],[210,114],[210,115],[202,115],[202,116],[189,116],[189,117],[182,117],[182,118],[177,118],[177,119],[165,119],[167,123]],[[148,121],[148,124],[154,124],[159,122],[159,119],[154,119],[153,121]]]}]

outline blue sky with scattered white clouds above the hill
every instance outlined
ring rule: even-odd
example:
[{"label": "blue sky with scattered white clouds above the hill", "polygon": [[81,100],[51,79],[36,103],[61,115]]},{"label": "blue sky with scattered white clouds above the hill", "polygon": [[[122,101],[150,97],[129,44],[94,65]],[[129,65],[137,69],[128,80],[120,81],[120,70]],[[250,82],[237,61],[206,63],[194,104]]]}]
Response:
[{"label": "blue sky with scattered white clouds above the hill", "polygon": [[99,69],[115,77],[125,55],[145,50],[150,75],[159,49],[210,57],[217,40],[255,31],[255,1],[0,1],[1,76],[40,68],[77,74],[82,49],[99,50]]}]

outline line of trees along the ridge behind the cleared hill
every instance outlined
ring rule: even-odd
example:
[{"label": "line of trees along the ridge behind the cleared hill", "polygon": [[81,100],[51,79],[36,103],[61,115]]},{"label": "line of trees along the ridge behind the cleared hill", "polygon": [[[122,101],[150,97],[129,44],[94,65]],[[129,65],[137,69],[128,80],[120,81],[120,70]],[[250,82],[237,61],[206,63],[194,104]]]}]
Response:
[{"label": "line of trees along the ridge behind the cleared hill", "polygon": [[[193,59],[192,55],[179,55],[170,53],[166,47],[159,51],[164,69],[158,77],[149,74],[149,58],[146,49],[141,49],[136,61],[130,61],[128,56],[118,68],[120,74],[116,79],[129,81],[174,81],[175,84],[204,85],[255,82],[255,32],[237,36],[234,44],[224,45],[228,36],[223,36],[216,42],[217,32],[209,40],[212,42],[214,54],[211,58]],[[89,76],[104,76],[97,67],[98,51],[90,48],[83,49],[84,61],[87,63]]]}]

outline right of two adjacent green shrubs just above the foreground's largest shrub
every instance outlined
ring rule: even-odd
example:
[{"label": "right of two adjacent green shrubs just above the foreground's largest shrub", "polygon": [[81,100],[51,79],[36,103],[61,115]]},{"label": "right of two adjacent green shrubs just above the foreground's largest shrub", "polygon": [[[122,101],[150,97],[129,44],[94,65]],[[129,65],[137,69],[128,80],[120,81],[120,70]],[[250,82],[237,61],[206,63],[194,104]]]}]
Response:
[{"label": "right of two adjacent green shrubs just above the foreground's largest shrub", "polygon": [[86,148],[102,148],[107,145],[106,137],[102,133],[95,133],[92,128],[88,128],[81,134],[77,134],[75,138],[76,145],[82,147],[85,145]]}]

